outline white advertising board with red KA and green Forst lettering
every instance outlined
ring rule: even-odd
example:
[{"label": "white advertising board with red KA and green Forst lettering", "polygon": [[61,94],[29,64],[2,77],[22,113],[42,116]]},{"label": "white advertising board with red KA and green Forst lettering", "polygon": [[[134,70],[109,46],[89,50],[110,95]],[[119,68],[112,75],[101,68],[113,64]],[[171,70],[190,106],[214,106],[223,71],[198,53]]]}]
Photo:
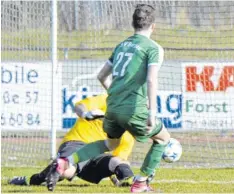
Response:
[{"label": "white advertising board with red KA and green Forst lettering", "polygon": [[233,129],[234,63],[183,63],[183,128]]}]

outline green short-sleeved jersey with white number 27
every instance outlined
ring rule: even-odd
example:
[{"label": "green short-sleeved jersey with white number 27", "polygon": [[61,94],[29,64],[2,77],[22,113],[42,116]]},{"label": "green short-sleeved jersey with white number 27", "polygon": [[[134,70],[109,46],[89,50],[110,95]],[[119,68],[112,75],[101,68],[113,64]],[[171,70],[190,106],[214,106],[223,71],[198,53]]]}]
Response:
[{"label": "green short-sleeved jersey with white number 27", "polygon": [[113,68],[108,112],[132,114],[147,108],[147,69],[150,65],[160,67],[163,54],[159,44],[139,34],[117,45],[109,58]]}]

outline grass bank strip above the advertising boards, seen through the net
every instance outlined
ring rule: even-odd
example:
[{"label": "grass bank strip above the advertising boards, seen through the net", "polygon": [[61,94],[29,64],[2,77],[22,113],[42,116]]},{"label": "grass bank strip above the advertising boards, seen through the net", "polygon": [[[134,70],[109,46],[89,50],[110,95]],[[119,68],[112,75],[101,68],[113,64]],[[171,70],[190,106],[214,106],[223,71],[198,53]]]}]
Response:
[{"label": "grass bank strip above the advertising boards, seen through the net", "polygon": [[[132,33],[132,30],[59,31],[58,59],[64,58],[64,49],[69,50],[69,59],[106,59],[116,44]],[[152,35],[152,39],[158,41],[165,48],[165,60],[233,60],[234,50],[225,50],[233,48],[233,34],[233,29],[216,31],[214,29],[197,30],[188,26],[177,28],[158,26],[156,32]],[[17,32],[5,32],[3,30],[2,45],[4,45],[4,48],[8,48],[2,50],[2,60],[50,59],[49,30],[27,29]],[[14,50],[16,48],[21,50]],[[77,50],[77,48],[79,49]]]}]

